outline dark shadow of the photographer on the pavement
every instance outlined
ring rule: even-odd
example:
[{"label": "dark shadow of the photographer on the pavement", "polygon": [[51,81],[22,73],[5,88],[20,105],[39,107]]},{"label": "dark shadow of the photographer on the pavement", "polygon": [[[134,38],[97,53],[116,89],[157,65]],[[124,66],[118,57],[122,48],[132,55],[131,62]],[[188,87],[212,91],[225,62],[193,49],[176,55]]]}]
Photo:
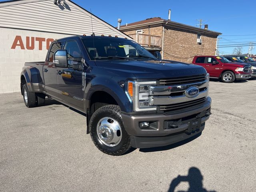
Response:
[{"label": "dark shadow of the photographer on the pavement", "polygon": [[203,187],[203,180],[204,177],[202,176],[200,170],[196,167],[191,167],[188,170],[188,175],[187,176],[180,176],[178,175],[174,180],[172,180],[170,184],[170,188],[168,192],[174,192],[176,187],[181,183],[181,182],[188,182],[189,188],[188,191],[177,191],[176,192],[216,192],[215,190],[208,191]]}]

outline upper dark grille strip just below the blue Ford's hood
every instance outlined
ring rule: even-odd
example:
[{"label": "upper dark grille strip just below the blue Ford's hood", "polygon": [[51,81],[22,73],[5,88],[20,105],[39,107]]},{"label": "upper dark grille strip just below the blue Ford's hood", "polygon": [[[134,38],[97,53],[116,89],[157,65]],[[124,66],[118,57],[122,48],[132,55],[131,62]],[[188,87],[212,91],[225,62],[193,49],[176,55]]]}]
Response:
[{"label": "upper dark grille strip just below the blue Ford's hood", "polygon": [[180,84],[201,82],[204,80],[206,80],[206,75],[197,75],[197,76],[182,77],[182,78],[160,79],[159,85],[180,85]]}]

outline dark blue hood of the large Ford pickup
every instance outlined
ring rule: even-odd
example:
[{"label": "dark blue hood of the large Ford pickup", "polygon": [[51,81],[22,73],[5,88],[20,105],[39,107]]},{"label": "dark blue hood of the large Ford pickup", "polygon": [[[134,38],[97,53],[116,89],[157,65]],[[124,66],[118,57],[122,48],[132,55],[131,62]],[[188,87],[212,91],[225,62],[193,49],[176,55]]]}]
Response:
[{"label": "dark blue hood of the large Ford pickup", "polygon": [[206,74],[206,70],[202,66],[168,60],[107,60],[97,61],[96,65],[110,70],[133,73],[137,78],[142,79],[176,78]]}]

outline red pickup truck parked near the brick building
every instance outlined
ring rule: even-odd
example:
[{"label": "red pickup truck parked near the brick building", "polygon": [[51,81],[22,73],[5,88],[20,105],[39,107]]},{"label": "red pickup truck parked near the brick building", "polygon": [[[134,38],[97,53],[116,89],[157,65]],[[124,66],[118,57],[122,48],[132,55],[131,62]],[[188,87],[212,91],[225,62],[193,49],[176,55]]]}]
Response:
[{"label": "red pickup truck parked near the brick building", "polygon": [[192,64],[204,67],[210,78],[220,78],[225,83],[247,80],[252,76],[250,64],[230,62],[222,56],[195,56]]}]

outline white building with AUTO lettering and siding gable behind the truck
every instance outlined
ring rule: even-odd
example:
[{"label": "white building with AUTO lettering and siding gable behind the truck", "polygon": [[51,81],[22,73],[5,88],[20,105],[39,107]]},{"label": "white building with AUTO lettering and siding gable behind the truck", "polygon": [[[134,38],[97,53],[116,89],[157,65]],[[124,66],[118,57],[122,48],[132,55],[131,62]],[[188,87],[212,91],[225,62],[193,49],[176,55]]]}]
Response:
[{"label": "white building with AUTO lettering and siding gable behind the truck", "polygon": [[0,2],[0,93],[20,91],[24,62],[44,61],[54,39],[73,35],[130,38],[70,0]]}]

